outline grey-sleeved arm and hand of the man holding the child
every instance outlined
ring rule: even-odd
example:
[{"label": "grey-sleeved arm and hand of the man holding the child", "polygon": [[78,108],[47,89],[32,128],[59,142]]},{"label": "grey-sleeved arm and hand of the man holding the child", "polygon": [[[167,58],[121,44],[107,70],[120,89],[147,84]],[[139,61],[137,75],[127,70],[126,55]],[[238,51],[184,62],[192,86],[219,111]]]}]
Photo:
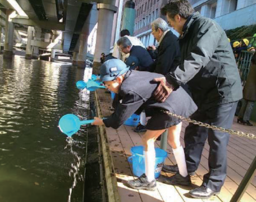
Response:
[{"label": "grey-sleeved arm and hand of the man holding the child", "polygon": [[[194,29],[198,29],[198,32],[192,39],[193,48],[187,58],[180,63],[175,71],[168,73],[165,79],[158,78],[155,80],[157,82],[162,81],[154,92],[154,96],[159,102],[164,102],[172,90],[194,78],[201,68],[204,68],[209,63],[218,46],[221,35],[218,27],[213,22],[207,20],[200,27],[199,25],[195,26],[197,27]],[[170,87],[166,85],[168,83]]]}]

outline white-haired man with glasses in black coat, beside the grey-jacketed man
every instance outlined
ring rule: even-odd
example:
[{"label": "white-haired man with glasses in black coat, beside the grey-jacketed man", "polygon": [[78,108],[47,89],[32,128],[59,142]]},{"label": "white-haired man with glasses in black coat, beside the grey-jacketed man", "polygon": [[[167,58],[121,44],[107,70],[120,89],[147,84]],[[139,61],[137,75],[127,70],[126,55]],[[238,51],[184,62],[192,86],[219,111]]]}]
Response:
[{"label": "white-haired man with glasses in black coat, beside the grey-jacketed man", "polygon": [[159,42],[159,46],[156,60],[150,66],[150,72],[166,75],[173,71],[179,63],[180,46],[178,38],[170,31],[168,24],[162,18],[154,20],[151,26],[151,33]]}]

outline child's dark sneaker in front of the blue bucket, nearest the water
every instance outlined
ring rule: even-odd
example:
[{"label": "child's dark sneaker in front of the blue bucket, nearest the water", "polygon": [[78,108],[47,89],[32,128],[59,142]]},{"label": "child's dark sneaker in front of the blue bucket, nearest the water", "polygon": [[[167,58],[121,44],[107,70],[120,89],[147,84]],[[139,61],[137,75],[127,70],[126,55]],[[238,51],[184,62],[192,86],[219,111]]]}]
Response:
[{"label": "child's dark sneaker in front of the blue bucket, nearest the water", "polygon": [[129,187],[135,188],[135,189],[145,189],[145,190],[151,190],[151,191],[156,190],[156,179],[154,179],[152,182],[149,182],[145,174],[142,174],[136,180],[128,180],[127,183]]}]

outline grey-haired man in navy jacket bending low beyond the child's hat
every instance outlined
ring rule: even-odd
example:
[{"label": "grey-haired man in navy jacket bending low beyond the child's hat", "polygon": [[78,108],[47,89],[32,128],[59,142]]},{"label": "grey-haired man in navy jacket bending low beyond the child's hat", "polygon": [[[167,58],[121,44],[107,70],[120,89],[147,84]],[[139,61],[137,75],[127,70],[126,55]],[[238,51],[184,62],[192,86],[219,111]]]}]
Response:
[{"label": "grey-haired man in navy jacket bending low beyond the child's hat", "polygon": [[127,37],[118,39],[117,44],[123,53],[130,53],[130,56],[138,58],[139,71],[149,71],[149,66],[153,63],[153,59],[145,48],[142,48],[141,46],[133,46]]}]

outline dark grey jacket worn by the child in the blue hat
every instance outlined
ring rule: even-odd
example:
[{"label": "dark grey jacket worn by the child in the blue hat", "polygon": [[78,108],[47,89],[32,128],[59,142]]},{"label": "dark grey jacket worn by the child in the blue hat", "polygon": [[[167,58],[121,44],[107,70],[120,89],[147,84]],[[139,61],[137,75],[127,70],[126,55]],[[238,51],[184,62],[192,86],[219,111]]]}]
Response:
[{"label": "dark grey jacket worn by the child in the blue hat", "polygon": [[197,106],[183,88],[172,92],[163,103],[154,99],[153,92],[158,84],[152,83],[152,80],[162,76],[147,71],[129,70],[115,96],[115,101],[122,102],[117,102],[116,111],[103,120],[106,127],[118,128],[139,108],[144,109],[147,116],[154,116],[157,110],[167,110],[184,117],[192,115]]}]

